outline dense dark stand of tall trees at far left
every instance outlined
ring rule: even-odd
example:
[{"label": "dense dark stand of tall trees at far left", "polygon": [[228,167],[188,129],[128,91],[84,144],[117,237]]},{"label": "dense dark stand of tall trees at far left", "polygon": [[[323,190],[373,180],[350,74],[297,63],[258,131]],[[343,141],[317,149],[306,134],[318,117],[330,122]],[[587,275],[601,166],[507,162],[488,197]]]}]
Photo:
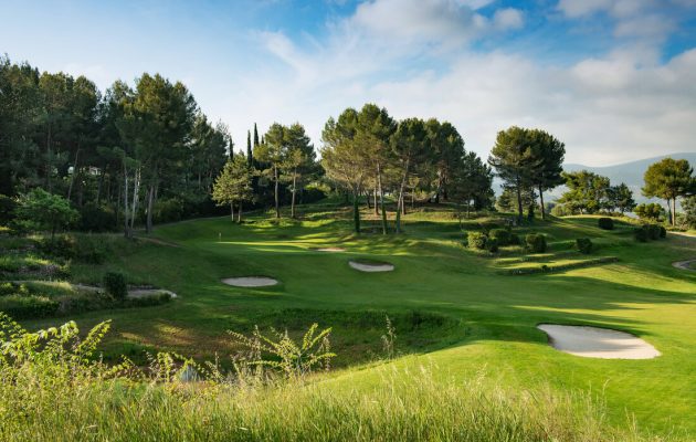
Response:
[{"label": "dense dark stand of tall trees at far left", "polygon": [[0,57],[0,194],[62,196],[84,230],[215,211],[214,178],[232,152],[188,88],[159,74],[102,93],[84,76],[40,73]]}]

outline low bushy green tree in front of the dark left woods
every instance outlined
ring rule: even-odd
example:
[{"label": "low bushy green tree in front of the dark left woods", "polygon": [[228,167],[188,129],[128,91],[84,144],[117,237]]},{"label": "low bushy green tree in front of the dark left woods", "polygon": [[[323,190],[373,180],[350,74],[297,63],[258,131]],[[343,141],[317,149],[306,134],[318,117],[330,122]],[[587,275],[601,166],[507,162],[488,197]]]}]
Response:
[{"label": "low bushy green tree in front of the dark left woods", "polygon": [[80,212],[65,198],[35,188],[20,197],[15,209],[18,222],[30,230],[50,230],[51,241],[59,229],[80,219]]}]

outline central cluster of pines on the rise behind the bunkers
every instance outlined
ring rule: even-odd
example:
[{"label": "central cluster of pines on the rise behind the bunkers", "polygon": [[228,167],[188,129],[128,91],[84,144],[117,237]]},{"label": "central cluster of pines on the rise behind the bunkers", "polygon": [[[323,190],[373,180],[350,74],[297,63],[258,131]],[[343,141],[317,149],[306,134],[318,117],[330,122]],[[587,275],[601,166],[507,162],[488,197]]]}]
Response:
[{"label": "central cluster of pines on the rise behind the bunkers", "polygon": [[329,118],[321,138],[321,165],[328,179],[352,197],[356,232],[360,232],[361,197],[381,218],[382,233],[390,230],[386,194],[396,200],[396,232],[401,231],[408,200],[411,204],[452,200],[474,209],[492,206],[493,171],[464,149],[464,139],[450,123],[397,122],[387,109],[366,104]]}]

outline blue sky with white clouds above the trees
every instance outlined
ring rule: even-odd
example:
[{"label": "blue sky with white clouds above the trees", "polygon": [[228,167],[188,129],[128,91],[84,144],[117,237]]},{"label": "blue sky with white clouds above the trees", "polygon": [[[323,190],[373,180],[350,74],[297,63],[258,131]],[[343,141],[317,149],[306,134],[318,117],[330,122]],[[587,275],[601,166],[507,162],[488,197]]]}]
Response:
[{"label": "blue sky with white clouds above the trees", "polygon": [[0,0],[0,52],[102,90],[186,83],[238,147],[259,123],[366,102],[455,124],[487,156],[540,127],[591,166],[696,151],[696,0]]}]

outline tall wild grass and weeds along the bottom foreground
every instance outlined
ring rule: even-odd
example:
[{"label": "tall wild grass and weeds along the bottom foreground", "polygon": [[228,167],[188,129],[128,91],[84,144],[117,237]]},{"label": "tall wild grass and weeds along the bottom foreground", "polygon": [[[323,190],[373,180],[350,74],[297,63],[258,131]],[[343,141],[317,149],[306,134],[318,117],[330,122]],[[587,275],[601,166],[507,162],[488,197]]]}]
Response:
[{"label": "tall wild grass and weeds along the bottom foreground", "polygon": [[74,323],[28,333],[0,314],[0,440],[643,440],[631,425],[608,425],[601,404],[587,396],[508,391],[481,378],[443,381],[436,367],[384,365],[375,368],[376,382],[361,382],[355,372],[312,371],[307,361],[330,358],[320,357],[328,355],[328,333],[316,327],[298,344],[286,335],[247,338],[256,352],[281,346],[285,359],[275,360],[302,370],[275,378],[259,375],[265,365],[252,359],[238,367],[254,370],[223,373],[215,364],[166,352],[147,368],[126,359],[107,366],[96,348],[108,327],[99,324],[84,338]]}]

